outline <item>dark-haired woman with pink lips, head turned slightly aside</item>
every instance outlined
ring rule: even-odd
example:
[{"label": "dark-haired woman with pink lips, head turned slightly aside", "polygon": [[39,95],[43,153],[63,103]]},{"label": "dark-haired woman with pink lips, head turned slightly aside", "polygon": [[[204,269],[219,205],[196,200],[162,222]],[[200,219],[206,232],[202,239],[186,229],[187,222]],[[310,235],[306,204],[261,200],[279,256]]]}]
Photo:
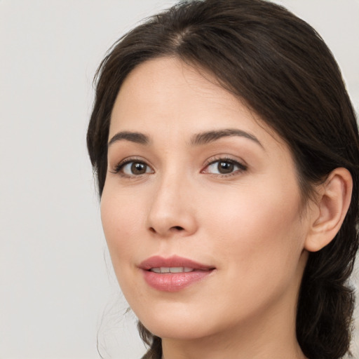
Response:
[{"label": "dark-haired woman with pink lips, head turned slightly aside", "polygon": [[358,127],[306,22],[262,0],[150,18],[100,65],[88,151],[144,358],[348,353]]}]

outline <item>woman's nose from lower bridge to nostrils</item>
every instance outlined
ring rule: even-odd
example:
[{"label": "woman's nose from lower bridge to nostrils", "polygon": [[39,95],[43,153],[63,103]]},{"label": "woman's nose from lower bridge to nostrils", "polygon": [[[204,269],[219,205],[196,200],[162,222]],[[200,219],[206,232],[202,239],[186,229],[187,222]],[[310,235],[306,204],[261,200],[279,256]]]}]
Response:
[{"label": "woman's nose from lower bridge to nostrils", "polygon": [[147,228],[157,236],[191,236],[197,230],[191,185],[176,175],[156,184],[147,216]]}]

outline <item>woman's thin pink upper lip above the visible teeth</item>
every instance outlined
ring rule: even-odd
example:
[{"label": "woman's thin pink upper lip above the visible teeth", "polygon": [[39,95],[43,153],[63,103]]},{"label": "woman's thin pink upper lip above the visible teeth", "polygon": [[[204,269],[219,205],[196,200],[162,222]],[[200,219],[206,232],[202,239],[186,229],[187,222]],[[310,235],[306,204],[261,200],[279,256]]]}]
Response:
[{"label": "woman's thin pink upper lip above the visible teeth", "polygon": [[210,269],[215,269],[214,266],[208,266],[206,264],[201,264],[195,262],[191,259],[179,257],[177,255],[173,255],[172,257],[164,258],[161,256],[153,256],[145,259],[140,263],[140,269],[144,269],[148,271],[151,268],[159,268],[159,267],[187,267],[198,269],[202,271],[208,271]]}]

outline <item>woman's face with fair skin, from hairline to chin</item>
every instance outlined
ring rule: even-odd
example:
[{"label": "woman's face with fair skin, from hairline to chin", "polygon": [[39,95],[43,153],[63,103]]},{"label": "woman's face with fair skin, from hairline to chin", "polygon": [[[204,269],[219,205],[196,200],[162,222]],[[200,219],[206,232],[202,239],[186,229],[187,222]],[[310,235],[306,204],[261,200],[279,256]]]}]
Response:
[{"label": "woman's face with fair skin, from hairline to chin", "polygon": [[294,327],[309,219],[292,156],[210,76],[169,58],[130,73],[101,212],[121,289],[159,337]]}]

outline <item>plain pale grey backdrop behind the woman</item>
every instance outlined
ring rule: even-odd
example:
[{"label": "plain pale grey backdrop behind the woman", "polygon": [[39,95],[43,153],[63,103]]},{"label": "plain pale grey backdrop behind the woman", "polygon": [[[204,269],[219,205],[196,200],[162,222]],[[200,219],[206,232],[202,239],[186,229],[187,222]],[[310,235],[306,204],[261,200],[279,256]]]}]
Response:
[{"label": "plain pale grey backdrop behind the woman", "polygon": [[[278,2],[323,36],[358,111],[359,1]],[[97,341],[104,358],[144,353],[106,250],[86,126],[109,46],[173,3],[0,0],[1,359],[100,358]]]}]

